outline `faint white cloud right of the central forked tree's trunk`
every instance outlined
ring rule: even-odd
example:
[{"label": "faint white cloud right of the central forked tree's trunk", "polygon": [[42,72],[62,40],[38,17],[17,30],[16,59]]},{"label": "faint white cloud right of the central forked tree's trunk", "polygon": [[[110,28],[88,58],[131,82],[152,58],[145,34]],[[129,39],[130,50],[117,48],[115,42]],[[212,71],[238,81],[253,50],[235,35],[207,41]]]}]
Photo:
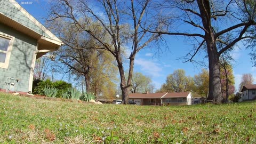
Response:
[{"label": "faint white cloud right of the central forked tree's trunk", "polygon": [[135,65],[141,67],[141,71],[145,74],[149,74],[151,76],[161,76],[160,72],[162,71],[162,68],[159,67],[158,63],[152,61],[152,60],[145,60],[145,59],[135,59]]}]

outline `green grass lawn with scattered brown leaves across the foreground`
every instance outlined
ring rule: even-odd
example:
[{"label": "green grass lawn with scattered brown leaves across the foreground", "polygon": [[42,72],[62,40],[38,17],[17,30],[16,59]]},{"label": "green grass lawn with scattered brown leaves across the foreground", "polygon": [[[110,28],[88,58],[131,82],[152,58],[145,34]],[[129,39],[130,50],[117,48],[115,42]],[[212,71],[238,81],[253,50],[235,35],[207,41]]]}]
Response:
[{"label": "green grass lawn with scattered brown leaves across the foreground", "polygon": [[0,143],[256,143],[256,102],[95,105],[0,93]]}]

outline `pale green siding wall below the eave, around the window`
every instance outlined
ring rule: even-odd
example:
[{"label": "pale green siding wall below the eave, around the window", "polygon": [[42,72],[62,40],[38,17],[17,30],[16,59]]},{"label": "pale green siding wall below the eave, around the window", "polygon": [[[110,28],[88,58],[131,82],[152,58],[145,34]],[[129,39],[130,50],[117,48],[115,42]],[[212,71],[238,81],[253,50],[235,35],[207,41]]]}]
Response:
[{"label": "pale green siding wall below the eave, around the window", "polygon": [[0,31],[15,38],[8,69],[0,68],[0,89],[6,89],[7,78],[12,77],[20,79],[18,91],[28,92],[30,66],[37,41],[1,23]]}]

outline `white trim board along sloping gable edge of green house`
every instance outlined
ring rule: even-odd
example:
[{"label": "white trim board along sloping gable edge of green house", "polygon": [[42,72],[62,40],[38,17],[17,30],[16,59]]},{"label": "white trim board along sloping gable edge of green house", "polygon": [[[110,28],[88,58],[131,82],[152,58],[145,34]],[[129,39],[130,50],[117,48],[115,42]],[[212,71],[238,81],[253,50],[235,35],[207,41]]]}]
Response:
[{"label": "white trim board along sloping gable edge of green house", "polygon": [[[24,15],[26,15],[26,17],[28,17],[32,22],[35,23],[36,26],[38,26],[39,28],[41,28],[42,30],[44,30],[44,32],[49,35],[51,38],[53,38],[53,40],[60,42],[60,39],[58,37],[56,37],[55,35],[53,35],[51,33],[50,30],[46,29],[39,21],[37,21],[31,14],[29,14],[25,9],[23,9],[22,6],[20,6],[17,2],[13,1],[13,0],[9,0],[15,7],[17,7]],[[18,22],[18,21],[17,21]],[[20,22],[18,22],[20,23]],[[20,23],[21,24],[21,23]],[[22,24],[21,24],[22,25]],[[24,25],[23,25],[24,26]],[[33,30],[34,31],[34,30]],[[35,31],[36,32],[36,31]],[[41,35],[41,34],[40,34]]]}]

